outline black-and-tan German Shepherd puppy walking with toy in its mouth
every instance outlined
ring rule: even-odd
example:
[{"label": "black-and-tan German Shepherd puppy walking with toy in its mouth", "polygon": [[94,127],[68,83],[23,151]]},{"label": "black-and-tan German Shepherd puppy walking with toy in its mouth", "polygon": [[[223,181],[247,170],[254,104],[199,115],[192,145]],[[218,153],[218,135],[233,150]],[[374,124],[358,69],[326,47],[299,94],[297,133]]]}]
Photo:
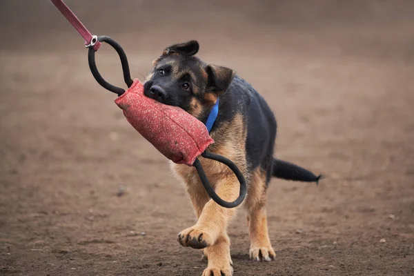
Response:
[{"label": "black-and-tan German Shepherd puppy walking with toy in its mouth", "polygon": [[[210,131],[215,144],[207,151],[232,160],[248,185],[244,206],[248,212],[250,258],[275,258],[268,236],[266,188],[271,177],[297,181],[318,181],[312,172],[273,157],[276,120],[266,101],[252,86],[229,68],[204,63],[194,55],[197,41],[170,46],[153,61],[144,84],[144,94],[161,103],[179,106],[206,123],[211,108],[219,101],[219,114]],[[219,197],[233,201],[239,195],[239,181],[223,164],[199,157]],[[197,223],[178,235],[181,246],[202,249],[208,259],[204,276],[233,275],[227,226],[235,208],[223,208],[208,197],[194,167],[172,164],[184,181]]]}]

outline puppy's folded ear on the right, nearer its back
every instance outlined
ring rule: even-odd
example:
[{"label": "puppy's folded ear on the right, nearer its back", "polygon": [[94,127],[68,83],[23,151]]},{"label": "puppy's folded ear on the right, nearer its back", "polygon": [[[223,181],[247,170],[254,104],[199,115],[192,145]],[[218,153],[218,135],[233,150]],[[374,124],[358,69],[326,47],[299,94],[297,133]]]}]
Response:
[{"label": "puppy's folded ear on the right, nearer its back", "polygon": [[235,71],[230,68],[209,64],[204,68],[207,73],[206,92],[214,92],[217,96],[223,94],[235,75]]}]

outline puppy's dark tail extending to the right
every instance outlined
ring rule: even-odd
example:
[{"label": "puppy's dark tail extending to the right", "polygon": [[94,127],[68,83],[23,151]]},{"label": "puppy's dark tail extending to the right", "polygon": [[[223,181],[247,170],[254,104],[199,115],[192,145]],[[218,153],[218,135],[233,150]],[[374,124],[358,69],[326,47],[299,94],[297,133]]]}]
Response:
[{"label": "puppy's dark tail extending to the right", "polygon": [[323,175],[316,176],[309,170],[276,158],[273,158],[272,175],[281,179],[316,182],[316,184],[318,184],[319,179],[324,178]]}]

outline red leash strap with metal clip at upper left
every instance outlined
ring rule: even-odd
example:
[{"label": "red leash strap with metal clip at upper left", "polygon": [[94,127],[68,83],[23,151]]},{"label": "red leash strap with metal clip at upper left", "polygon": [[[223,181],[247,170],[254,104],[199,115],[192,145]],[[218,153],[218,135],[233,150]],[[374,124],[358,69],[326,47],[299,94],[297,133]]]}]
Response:
[{"label": "red leash strap with metal clip at upper left", "polygon": [[85,46],[92,47],[93,50],[97,51],[99,47],[101,47],[101,42],[98,41],[96,35],[90,34],[90,32],[86,29],[85,26],[81,23],[81,21],[76,17],[76,15],[66,6],[66,3],[63,0],[50,0],[52,1],[53,5],[63,14],[66,19],[68,19],[69,23],[81,34],[83,39],[85,39]]}]

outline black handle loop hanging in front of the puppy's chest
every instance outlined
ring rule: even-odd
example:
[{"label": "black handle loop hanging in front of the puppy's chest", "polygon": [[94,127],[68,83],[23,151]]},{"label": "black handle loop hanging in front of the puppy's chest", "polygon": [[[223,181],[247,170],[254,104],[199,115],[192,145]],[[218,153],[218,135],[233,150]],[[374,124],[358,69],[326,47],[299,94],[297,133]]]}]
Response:
[{"label": "black handle loop hanging in front of the puppy's chest", "polygon": [[219,161],[225,164],[226,166],[228,166],[228,168],[230,168],[230,170],[233,170],[237,179],[240,182],[239,197],[237,197],[235,201],[228,202],[228,201],[221,199],[217,195],[217,193],[215,193],[215,190],[211,187],[210,182],[208,181],[208,178],[206,176],[206,172],[204,172],[203,166],[201,166],[201,162],[199,161],[199,159],[195,159],[193,166],[195,166],[195,169],[197,170],[199,177],[201,179],[201,183],[203,184],[204,188],[206,189],[206,192],[211,197],[211,199],[213,199],[217,204],[219,204],[220,206],[223,206],[224,208],[235,208],[236,206],[239,206],[240,204],[242,204],[244,197],[246,197],[247,190],[246,190],[246,179],[244,179],[244,176],[242,172],[240,172],[239,168],[237,168],[237,166],[232,161],[227,159],[226,157],[222,157],[221,155],[216,155],[213,152],[203,152],[201,156],[204,158],[212,159],[212,160]]}]

